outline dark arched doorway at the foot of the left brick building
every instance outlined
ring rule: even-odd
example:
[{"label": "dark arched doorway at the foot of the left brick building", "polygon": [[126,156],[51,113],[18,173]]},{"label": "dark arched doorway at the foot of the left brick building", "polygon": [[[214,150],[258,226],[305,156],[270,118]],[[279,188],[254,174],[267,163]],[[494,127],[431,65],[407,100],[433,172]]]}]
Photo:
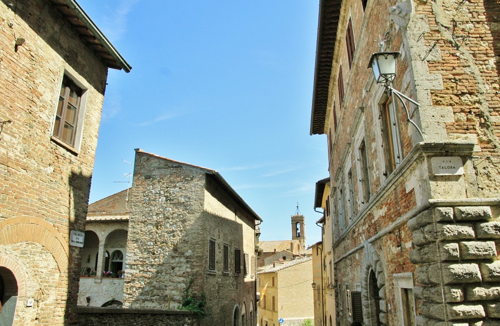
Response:
[{"label": "dark arched doorway at the foot of the left brick building", "polygon": [[0,325],[12,325],[16,303],[17,280],[10,269],[0,266]]}]

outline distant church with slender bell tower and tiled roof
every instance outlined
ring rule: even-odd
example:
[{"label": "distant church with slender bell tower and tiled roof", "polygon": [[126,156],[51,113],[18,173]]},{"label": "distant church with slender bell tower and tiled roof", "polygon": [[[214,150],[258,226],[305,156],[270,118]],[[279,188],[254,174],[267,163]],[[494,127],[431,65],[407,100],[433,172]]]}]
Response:
[{"label": "distant church with slender bell tower and tiled roof", "polygon": [[300,214],[297,206],[296,213],[290,216],[291,239],[259,241],[257,267],[262,267],[273,261],[282,261],[310,255],[305,248],[305,218]]}]

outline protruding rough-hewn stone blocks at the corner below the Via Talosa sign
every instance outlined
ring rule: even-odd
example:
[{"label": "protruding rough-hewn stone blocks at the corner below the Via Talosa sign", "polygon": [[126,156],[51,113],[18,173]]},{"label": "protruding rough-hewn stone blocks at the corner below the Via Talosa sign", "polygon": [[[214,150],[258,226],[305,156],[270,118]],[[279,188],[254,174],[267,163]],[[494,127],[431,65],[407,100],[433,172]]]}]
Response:
[{"label": "protruding rough-hewn stone blocks at the corner below the Via Talosa sign", "polygon": [[500,323],[499,220],[498,205],[444,206],[408,222],[418,324]]}]

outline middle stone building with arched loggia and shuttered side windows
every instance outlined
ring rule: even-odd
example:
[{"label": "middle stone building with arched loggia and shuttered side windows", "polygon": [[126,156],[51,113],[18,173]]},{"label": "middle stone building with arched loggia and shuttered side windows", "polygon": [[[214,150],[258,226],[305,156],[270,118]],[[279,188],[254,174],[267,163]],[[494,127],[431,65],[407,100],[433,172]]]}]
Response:
[{"label": "middle stone building with arched loggia and shuttered side windows", "polygon": [[78,303],[176,310],[205,296],[201,324],[254,325],[260,217],[217,171],[135,151],[132,187],[89,205]]}]

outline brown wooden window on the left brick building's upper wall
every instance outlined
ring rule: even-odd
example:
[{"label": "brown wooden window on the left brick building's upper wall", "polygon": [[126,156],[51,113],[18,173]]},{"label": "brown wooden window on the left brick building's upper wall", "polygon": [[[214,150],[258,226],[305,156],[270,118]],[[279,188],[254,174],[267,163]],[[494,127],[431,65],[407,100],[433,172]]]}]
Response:
[{"label": "brown wooden window on the left brick building's upper wall", "polygon": [[82,92],[69,77],[62,78],[52,135],[70,146],[76,138]]}]

